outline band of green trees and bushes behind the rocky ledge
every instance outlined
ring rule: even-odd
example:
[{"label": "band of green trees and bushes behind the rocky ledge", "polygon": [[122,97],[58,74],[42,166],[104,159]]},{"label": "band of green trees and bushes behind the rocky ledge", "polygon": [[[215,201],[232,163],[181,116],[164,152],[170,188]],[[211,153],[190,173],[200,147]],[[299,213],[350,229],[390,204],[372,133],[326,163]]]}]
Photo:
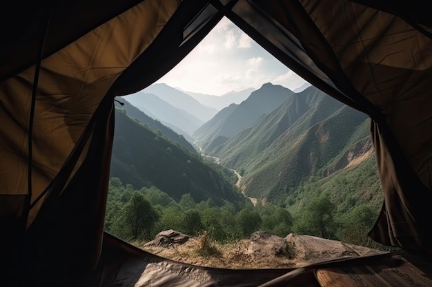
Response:
[{"label": "band of green trees and bushes behind the rocky ledge", "polygon": [[[349,244],[388,250],[367,237],[377,211],[361,204],[348,213],[337,213],[325,193],[311,200],[301,213],[267,203],[246,203],[236,209],[230,202],[216,205],[213,200],[195,202],[188,193],[179,202],[156,187],[135,190],[130,184],[111,178],[105,230],[124,240],[152,240],[160,231],[174,229],[201,238],[197,252],[216,254],[213,242],[226,243],[248,238],[255,231],[279,237],[289,233],[315,235]],[[288,246],[293,248],[295,246]]]}]

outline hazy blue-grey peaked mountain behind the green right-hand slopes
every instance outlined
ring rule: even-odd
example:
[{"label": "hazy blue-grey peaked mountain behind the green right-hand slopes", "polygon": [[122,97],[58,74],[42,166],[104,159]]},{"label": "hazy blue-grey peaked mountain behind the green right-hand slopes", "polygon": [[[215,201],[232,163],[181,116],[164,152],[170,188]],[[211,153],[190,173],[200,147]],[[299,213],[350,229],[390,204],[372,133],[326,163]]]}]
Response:
[{"label": "hazy blue-grey peaked mountain behind the green right-hand slopes", "polygon": [[199,127],[193,136],[200,142],[202,149],[209,153],[239,131],[253,126],[260,118],[282,105],[292,94],[286,87],[266,83],[239,105],[232,104],[219,111]]}]

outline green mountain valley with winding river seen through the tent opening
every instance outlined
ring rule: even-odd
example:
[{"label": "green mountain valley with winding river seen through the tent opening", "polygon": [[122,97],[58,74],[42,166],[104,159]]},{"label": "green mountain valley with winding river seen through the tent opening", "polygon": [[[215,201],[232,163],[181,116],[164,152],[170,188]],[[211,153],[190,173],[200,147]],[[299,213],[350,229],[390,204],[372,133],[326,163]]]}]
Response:
[{"label": "green mountain valley with winding river seen through the tent opening", "polygon": [[[146,240],[170,228],[218,242],[261,230],[384,248],[366,236],[382,204],[366,115],[312,86],[266,83],[226,107],[164,94],[173,89],[150,86],[116,104],[107,231],[135,238],[125,218],[139,200],[154,215],[138,236]],[[168,103],[173,95],[188,110]]]}]

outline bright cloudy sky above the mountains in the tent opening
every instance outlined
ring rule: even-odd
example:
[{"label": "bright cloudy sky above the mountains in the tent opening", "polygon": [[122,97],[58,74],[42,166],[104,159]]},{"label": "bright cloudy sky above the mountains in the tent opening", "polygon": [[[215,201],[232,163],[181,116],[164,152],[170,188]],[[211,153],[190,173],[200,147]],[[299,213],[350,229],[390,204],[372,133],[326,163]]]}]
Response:
[{"label": "bright cloudy sky above the mountains in the tent opening", "polygon": [[156,83],[188,92],[221,96],[264,83],[288,89],[304,81],[223,18],[195,49]]}]

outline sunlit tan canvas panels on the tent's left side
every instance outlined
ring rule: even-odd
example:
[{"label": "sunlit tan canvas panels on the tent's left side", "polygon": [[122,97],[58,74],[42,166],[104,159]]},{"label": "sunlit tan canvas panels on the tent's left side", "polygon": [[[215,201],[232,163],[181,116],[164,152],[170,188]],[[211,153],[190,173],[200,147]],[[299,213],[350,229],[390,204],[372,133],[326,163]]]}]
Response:
[{"label": "sunlit tan canvas panels on the tent's left side", "polygon": [[[177,5],[141,2],[42,61],[33,127],[32,202],[57,176],[112,83],[150,45]],[[8,178],[0,182],[1,194],[28,193],[26,128],[34,72],[30,67],[0,85],[0,174]],[[35,213],[37,208],[29,224]]]}]

